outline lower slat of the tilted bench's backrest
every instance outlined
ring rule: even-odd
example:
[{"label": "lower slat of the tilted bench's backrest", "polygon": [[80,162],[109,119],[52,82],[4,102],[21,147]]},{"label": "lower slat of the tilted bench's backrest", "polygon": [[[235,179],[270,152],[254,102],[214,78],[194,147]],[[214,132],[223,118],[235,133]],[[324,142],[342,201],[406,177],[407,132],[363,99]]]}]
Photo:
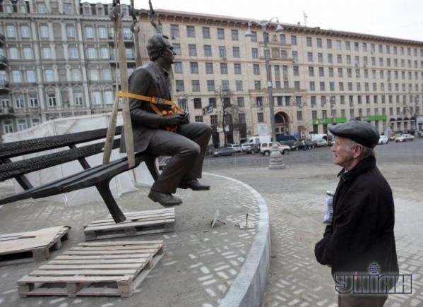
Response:
[{"label": "lower slat of the tilted bench's backrest", "polygon": [[[118,148],[119,143],[120,139],[114,140],[113,148]],[[69,150],[61,150],[60,152],[54,152],[49,155],[1,164],[0,181],[11,179],[14,176],[22,174],[28,174],[32,171],[39,171],[40,169],[47,169],[48,167],[54,167],[59,164],[71,162],[73,160],[80,159],[81,157],[97,155],[98,153],[102,152],[104,146],[105,143],[100,142],[92,145],[72,148]]]}]

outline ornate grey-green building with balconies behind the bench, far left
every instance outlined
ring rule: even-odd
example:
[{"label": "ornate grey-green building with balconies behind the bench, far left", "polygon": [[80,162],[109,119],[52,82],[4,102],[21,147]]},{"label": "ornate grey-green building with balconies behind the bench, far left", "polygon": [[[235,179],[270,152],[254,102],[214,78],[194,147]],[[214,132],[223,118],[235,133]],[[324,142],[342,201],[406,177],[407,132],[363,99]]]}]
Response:
[{"label": "ornate grey-green building with balconies behind the bench, far left", "polygon": [[[112,5],[0,1],[0,135],[59,117],[109,112],[114,102]],[[122,6],[128,67],[135,67]]]}]

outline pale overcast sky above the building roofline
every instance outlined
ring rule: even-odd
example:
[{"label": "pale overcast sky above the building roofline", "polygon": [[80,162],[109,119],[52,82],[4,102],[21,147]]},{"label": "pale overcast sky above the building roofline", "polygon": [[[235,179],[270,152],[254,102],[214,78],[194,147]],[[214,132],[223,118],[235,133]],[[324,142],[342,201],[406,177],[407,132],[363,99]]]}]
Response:
[{"label": "pale overcast sky above the building roofline", "polygon": [[[83,0],[82,0],[83,1]],[[109,0],[86,0],[91,3]],[[423,0],[151,0],[153,8],[254,20],[278,17],[322,29],[343,30],[423,42]],[[121,0],[129,4],[129,0]],[[148,0],[135,0],[148,8]]]}]

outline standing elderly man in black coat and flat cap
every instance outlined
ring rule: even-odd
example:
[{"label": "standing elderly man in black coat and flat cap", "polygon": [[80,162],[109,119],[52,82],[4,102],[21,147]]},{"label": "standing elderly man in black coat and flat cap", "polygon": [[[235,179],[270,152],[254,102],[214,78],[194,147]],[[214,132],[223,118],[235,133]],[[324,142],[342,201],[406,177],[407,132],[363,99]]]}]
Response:
[{"label": "standing elderly man in black coat and flat cap", "polygon": [[329,131],[335,136],[333,163],[342,171],[332,223],[314,253],[319,263],[332,269],[340,307],[383,306],[395,281],[383,280],[377,287],[364,278],[398,274],[392,191],[374,155],[379,133],[363,121],[331,126]]}]

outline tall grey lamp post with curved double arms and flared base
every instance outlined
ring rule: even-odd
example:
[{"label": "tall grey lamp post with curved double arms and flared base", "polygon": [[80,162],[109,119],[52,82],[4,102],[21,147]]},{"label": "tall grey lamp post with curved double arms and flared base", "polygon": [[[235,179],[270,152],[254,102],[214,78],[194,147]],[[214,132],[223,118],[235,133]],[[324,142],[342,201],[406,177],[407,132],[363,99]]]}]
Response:
[{"label": "tall grey lamp post with curved double arms and flared base", "polygon": [[273,147],[270,154],[270,163],[269,169],[281,169],[285,165],[282,164],[282,154],[278,150],[278,145],[276,144],[276,131],[275,131],[275,114],[273,108],[273,92],[272,92],[272,71],[270,70],[270,49],[268,49],[268,28],[272,20],[276,20],[278,26],[275,31],[277,33],[282,32],[283,28],[280,25],[277,17],[270,18],[269,20],[254,21],[251,20],[248,23],[248,30],[245,32],[246,37],[252,37],[253,32],[251,32],[251,25],[256,24],[261,27],[261,32],[263,32],[263,42],[264,42],[264,59],[266,64],[266,87],[268,90],[268,100],[269,100],[269,112],[270,112],[270,130],[272,133]]}]

